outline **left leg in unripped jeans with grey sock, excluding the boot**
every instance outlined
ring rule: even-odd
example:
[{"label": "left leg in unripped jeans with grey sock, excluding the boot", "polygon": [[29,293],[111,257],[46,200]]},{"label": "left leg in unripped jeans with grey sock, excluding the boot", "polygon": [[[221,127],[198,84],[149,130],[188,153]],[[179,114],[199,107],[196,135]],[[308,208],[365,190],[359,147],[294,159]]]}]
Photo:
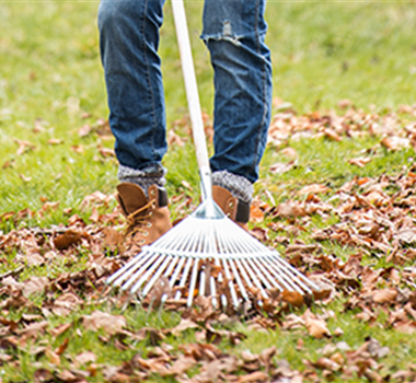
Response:
[{"label": "left leg in unripped jeans with grey sock, excluding the boot", "polygon": [[164,0],[103,0],[100,48],[120,182],[163,186],[165,109],[159,28]]}]

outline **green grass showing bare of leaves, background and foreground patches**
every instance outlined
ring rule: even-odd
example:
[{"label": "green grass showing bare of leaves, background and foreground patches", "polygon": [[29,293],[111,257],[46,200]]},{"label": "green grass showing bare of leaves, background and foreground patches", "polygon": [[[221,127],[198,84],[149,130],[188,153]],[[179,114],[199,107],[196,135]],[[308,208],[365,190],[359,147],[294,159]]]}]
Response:
[{"label": "green grass showing bare of leaves, background and foreground patches", "polygon": [[[201,4],[201,1],[186,2],[201,104],[211,114],[212,73],[208,51],[198,39]],[[44,218],[23,219],[16,223],[20,227],[65,224],[68,216],[63,214],[63,210],[71,207],[73,213],[88,220],[91,211],[80,209],[83,198],[95,190],[112,194],[117,184],[115,159],[100,154],[100,148],[112,148],[113,140],[103,139],[95,132],[84,138],[78,135],[78,129],[85,124],[100,128],[99,120],[107,116],[95,21],[97,5],[97,2],[82,1],[0,2],[0,217],[26,208],[37,211],[45,200],[60,202],[56,211]],[[343,98],[349,98],[365,111],[373,109],[380,114],[397,111],[402,104],[416,103],[414,3],[270,0],[267,4],[267,42],[274,60],[274,96],[292,104],[300,114],[333,108],[340,112],[337,104]],[[172,126],[186,115],[186,101],[169,4],[162,28],[161,56],[167,125]],[[37,119],[42,119],[37,123],[42,129],[34,132]],[[62,143],[49,144],[53,138]],[[18,155],[15,140],[30,141],[34,149]],[[279,202],[294,198],[297,190],[304,185],[322,183],[331,188],[331,195],[355,176],[375,177],[382,173],[396,173],[413,161],[413,150],[391,153],[378,149],[372,162],[366,167],[348,164],[348,159],[362,155],[362,151],[373,148],[379,141],[380,138],[366,138],[334,142],[320,138],[288,142],[296,149],[299,159],[296,169],[281,175],[271,175],[268,169],[287,159],[276,148],[269,147],[262,163],[262,179],[256,185],[256,192],[261,194],[268,189]],[[76,153],[71,150],[73,146],[82,146],[84,152]],[[7,163],[10,165],[7,166]],[[198,175],[192,146],[186,143],[183,148],[171,148],[164,164],[169,169],[170,195],[185,192],[197,204]],[[185,188],[182,181],[187,181],[193,190]],[[112,204],[115,206],[115,202]],[[174,207],[172,210],[173,218],[177,218]],[[336,218],[331,217],[328,220],[335,222]],[[313,228],[327,224],[328,221],[313,220]],[[10,232],[13,227],[10,220],[4,220],[0,222],[0,233]],[[301,239],[311,241],[308,233]],[[325,253],[344,259],[354,252],[336,244],[323,245]],[[7,259],[7,263],[0,264],[0,272],[16,266],[15,256],[15,251],[0,254],[0,258]],[[82,254],[76,264],[60,259],[54,264],[55,269],[26,268],[20,279],[25,280],[33,275],[54,278],[62,271],[79,271],[86,267],[86,260],[88,256]],[[379,264],[383,266],[381,260]],[[45,297],[31,299],[39,307]],[[377,338],[391,348],[382,362],[384,368],[393,371],[405,369],[409,360],[415,360],[414,337],[378,326],[371,327],[355,318],[354,313],[343,313],[342,303],[335,302],[324,307],[337,313],[328,323],[330,329],[339,326],[345,332],[337,340],[345,340],[351,348],[357,348],[366,337]],[[103,364],[119,365],[130,359],[134,352],[146,355],[146,343],[135,345],[136,350],[120,352],[113,344],[103,344],[99,338],[100,333],[83,330],[80,317],[95,309],[108,310],[106,305],[96,305],[85,306],[66,318],[51,315],[48,317],[50,327],[61,323],[73,323],[73,326],[68,334],[57,339],[46,336],[42,341],[50,343],[54,349],[65,337],[70,337],[73,341],[68,348],[68,356],[94,350],[99,357],[97,363]],[[111,310],[114,314],[118,313],[117,309]],[[320,312],[322,309],[314,310]],[[10,312],[9,318],[20,318],[23,312]],[[38,309],[35,310],[37,312]],[[178,315],[165,312],[148,314],[129,309],[125,315],[134,329],[147,325],[173,327],[178,322]],[[326,343],[308,337],[304,329],[294,333],[276,329],[264,334],[249,330],[243,323],[232,328],[246,333],[249,337],[231,352],[243,349],[261,352],[275,345],[278,348],[277,359],[287,359],[293,369],[303,369],[303,359],[315,360]],[[296,348],[300,336],[305,340],[303,351]],[[181,343],[194,340],[192,332],[176,339],[169,338],[175,348]],[[226,343],[220,347],[230,349]],[[31,355],[30,344],[26,349],[16,351],[16,356],[21,368],[0,365],[0,381],[1,376],[8,378],[4,382],[31,381],[37,365],[48,365],[45,357],[35,358]],[[65,359],[62,365],[68,364],[69,361]],[[99,374],[91,381],[102,382],[102,379]],[[335,376],[334,382],[342,380]]]}]

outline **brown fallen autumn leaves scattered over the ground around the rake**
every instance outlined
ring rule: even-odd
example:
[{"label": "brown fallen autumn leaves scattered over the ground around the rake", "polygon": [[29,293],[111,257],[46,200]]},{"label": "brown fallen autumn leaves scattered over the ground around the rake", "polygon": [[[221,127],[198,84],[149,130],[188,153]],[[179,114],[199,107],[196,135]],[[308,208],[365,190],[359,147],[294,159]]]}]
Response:
[{"label": "brown fallen autumn leaves scattered over the ground around the rake", "polygon": [[[413,115],[415,108],[403,113]],[[289,111],[276,116],[269,138],[281,146],[305,132],[333,140],[381,132],[380,144],[389,150],[400,150],[405,142],[414,146],[416,126],[397,121],[397,116],[366,117],[354,108],[342,120],[317,114],[298,117]],[[81,208],[91,212],[89,219],[72,214],[67,225],[22,224],[27,218],[48,214],[58,204],[54,201],[45,201],[38,211],[2,213],[3,221],[13,221],[19,229],[0,235],[0,263],[7,270],[0,275],[0,372],[5,365],[23,369],[21,356],[31,355],[36,360],[35,382],[140,382],[155,376],[238,383],[414,381],[412,360],[404,370],[384,364],[391,355],[386,345],[372,337],[360,345],[348,344],[343,326],[334,328],[332,323],[346,315],[414,336],[415,192],[416,167],[411,164],[394,175],[355,177],[338,189],[307,185],[279,204],[265,202],[270,199],[259,194],[252,206],[252,235],[282,249],[285,258],[321,291],[314,297],[275,292],[263,304],[256,303],[252,291],[252,304],[240,312],[216,310],[207,297],[196,298],[192,309],[186,301],[167,301],[163,311],[181,317],[172,328],[151,324],[135,328],[131,310],[161,309],[151,301],[141,306],[105,283],[129,258],[123,248],[124,219],[113,196],[100,192],[86,196]],[[192,208],[186,195],[172,199],[176,206]],[[337,247],[347,249],[343,258],[335,254]],[[337,312],[328,309],[334,306]],[[241,330],[242,323],[246,330]],[[322,344],[296,368],[280,358],[277,345],[257,353],[242,347],[247,334],[267,338],[273,332],[294,337],[298,352],[307,350],[308,339]],[[117,349],[125,356],[123,361],[99,362],[91,349],[69,352],[72,337],[86,333],[99,334],[100,345]],[[172,346],[186,334],[192,334],[190,341]],[[50,339],[59,345],[51,347]],[[10,380],[0,374],[2,381]]]}]

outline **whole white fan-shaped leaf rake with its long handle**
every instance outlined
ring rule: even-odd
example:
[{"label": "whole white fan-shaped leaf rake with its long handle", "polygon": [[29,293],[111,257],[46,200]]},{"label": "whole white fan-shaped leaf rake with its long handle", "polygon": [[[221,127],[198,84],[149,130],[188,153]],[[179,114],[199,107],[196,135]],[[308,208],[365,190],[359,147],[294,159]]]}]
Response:
[{"label": "whole white fan-shaped leaf rake with its long handle", "polygon": [[[312,294],[319,287],[241,229],[212,199],[211,171],[204,131],[183,0],[172,0],[185,81],[194,143],[200,175],[203,202],[186,219],[149,246],[143,246],[107,282],[145,299],[160,283],[169,285],[175,300],[210,297],[215,307],[240,307],[253,292],[259,303],[271,290]],[[187,291],[186,291],[187,290]],[[259,298],[258,298],[259,297]],[[162,295],[162,302],[169,294]]]}]

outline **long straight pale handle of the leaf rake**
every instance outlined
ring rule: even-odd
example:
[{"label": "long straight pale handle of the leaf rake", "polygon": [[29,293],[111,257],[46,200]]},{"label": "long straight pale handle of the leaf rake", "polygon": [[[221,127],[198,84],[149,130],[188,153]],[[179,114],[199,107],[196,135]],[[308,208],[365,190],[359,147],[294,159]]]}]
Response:
[{"label": "long straight pale handle of the leaf rake", "polygon": [[181,54],[181,65],[189,108],[196,158],[199,167],[203,200],[207,200],[209,198],[212,198],[211,170],[209,166],[203,113],[199,103],[198,85],[196,81],[194,59],[192,55],[185,7],[183,0],[172,0],[171,2],[176,28],[177,44]]}]

